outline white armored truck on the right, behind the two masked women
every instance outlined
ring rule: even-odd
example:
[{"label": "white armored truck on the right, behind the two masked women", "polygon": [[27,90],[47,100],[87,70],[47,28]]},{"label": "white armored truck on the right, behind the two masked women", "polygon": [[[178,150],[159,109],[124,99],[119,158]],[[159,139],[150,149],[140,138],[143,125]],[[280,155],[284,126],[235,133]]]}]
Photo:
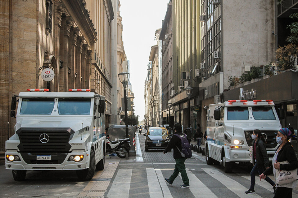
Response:
[{"label": "white armored truck on the right, behind the two masked women", "polygon": [[229,100],[209,105],[206,115],[207,164],[221,162],[225,172],[229,173],[233,163],[249,163],[254,129],[262,131],[267,153],[273,157],[278,146],[275,137],[282,127],[278,117],[284,118],[284,110],[279,109],[278,112],[272,100]]}]

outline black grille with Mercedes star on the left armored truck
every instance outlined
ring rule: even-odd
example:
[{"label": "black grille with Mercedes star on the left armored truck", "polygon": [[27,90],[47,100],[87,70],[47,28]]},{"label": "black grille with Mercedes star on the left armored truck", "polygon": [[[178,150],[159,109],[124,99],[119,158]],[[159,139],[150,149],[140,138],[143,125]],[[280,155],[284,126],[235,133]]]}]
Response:
[{"label": "black grille with Mercedes star on the left armored truck", "polygon": [[[71,147],[68,142],[74,131],[70,128],[50,128],[48,130],[45,128],[20,128],[16,133],[20,138],[18,145],[20,152],[47,154],[68,153]],[[48,139],[46,143],[42,143],[40,140],[42,134],[46,134]]]}]

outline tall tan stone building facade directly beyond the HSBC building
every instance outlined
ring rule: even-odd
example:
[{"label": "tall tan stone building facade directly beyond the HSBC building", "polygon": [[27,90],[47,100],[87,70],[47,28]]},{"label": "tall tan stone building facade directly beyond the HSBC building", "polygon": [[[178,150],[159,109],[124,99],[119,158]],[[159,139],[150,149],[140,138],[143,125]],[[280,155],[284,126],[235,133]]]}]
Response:
[{"label": "tall tan stone building facade directly beyond the HSBC building", "polygon": [[106,97],[106,125],[111,123],[112,106],[112,20],[114,10],[111,0],[86,1],[90,18],[96,28],[97,42],[92,54],[90,88]]}]

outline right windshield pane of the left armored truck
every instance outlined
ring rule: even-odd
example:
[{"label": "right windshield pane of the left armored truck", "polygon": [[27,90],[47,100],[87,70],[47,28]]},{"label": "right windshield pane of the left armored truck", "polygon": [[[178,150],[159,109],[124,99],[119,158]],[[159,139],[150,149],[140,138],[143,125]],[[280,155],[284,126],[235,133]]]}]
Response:
[{"label": "right windshield pane of the left armored truck", "polygon": [[90,115],[91,98],[59,98],[59,115]]}]

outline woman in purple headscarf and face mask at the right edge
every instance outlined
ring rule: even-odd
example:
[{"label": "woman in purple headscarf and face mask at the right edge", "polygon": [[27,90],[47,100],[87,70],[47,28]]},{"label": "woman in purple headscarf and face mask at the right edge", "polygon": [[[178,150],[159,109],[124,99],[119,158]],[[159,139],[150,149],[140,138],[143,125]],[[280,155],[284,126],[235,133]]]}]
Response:
[{"label": "woman in purple headscarf and face mask at the right edge", "polygon": [[[266,179],[266,175],[275,173],[276,170],[295,170],[298,168],[298,161],[294,149],[289,142],[289,138],[292,137],[292,132],[288,128],[282,128],[278,131],[276,136],[276,142],[279,144],[269,169],[266,169],[260,174],[260,179]],[[280,164],[279,162],[288,161],[289,164]],[[277,185],[277,190],[273,198],[292,198],[293,188],[297,185],[297,180],[292,183],[284,185]]]}]

